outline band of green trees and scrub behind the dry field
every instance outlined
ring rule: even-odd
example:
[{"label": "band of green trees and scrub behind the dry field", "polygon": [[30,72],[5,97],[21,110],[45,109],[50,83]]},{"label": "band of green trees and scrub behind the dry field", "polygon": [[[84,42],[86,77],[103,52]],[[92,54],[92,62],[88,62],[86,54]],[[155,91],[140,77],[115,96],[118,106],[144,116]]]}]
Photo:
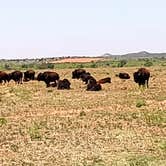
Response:
[{"label": "band of green trees and scrub behind the dry field", "polygon": [[38,61],[10,61],[0,60],[0,70],[26,70],[26,69],[65,69],[65,68],[98,68],[98,67],[134,67],[134,66],[166,66],[165,58],[144,59],[106,59],[87,63],[50,63],[45,60]]}]

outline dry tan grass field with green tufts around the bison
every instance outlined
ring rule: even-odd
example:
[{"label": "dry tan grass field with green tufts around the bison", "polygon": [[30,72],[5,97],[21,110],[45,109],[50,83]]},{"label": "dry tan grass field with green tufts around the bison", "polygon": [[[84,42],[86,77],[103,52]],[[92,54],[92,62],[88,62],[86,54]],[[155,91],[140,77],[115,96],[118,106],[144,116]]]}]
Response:
[{"label": "dry tan grass field with green tufts around the bison", "polygon": [[149,89],[115,77],[132,67],[86,69],[112,78],[99,92],[72,80],[73,69],[55,70],[71,90],[0,85],[0,165],[165,166],[166,67],[149,69]]}]

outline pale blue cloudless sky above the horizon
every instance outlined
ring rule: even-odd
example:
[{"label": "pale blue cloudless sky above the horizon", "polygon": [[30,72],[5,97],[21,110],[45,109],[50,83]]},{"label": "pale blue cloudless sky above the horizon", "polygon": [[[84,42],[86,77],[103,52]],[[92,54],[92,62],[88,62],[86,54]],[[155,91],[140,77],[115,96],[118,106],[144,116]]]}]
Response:
[{"label": "pale blue cloudless sky above the horizon", "polygon": [[0,0],[0,59],[166,52],[165,0]]}]

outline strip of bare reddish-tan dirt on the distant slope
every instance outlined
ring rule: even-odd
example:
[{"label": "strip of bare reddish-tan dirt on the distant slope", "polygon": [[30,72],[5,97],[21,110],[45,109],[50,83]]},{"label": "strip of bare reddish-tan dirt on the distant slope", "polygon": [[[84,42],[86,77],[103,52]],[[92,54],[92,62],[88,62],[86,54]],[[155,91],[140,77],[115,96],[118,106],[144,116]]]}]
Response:
[{"label": "strip of bare reddish-tan dirt on the distant slope", "polygon": [[86,63],[86,62],[96,62],[103,60],[103,58],[64,58],[57,61],[52,61],[51,63]]}]

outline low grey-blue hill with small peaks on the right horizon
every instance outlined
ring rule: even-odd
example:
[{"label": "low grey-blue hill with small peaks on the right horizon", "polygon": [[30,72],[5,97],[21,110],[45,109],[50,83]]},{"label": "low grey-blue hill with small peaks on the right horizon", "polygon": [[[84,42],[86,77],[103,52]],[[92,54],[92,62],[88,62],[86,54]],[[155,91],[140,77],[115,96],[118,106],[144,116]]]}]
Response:
[{"label": "low grey-blue hill with small peaks on the right horizon", "polygon": [[105,53],[103,58],[118,58],[118,59],[140,59],[140,58],[166,58],[166,53],[149,53],[147,51],[141,51],[137,53],[128,53],[124,55],[112,55]]}]

